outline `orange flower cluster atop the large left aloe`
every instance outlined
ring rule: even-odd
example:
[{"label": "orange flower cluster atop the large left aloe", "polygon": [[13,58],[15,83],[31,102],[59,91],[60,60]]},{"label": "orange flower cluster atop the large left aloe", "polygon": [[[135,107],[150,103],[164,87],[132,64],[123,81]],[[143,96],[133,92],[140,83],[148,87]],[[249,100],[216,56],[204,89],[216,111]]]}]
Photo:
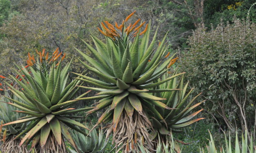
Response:
[{"label": "orange flower cluster atop the large left aloe", "polygon": [[[44,60],[45,61],[48,61],[48,64],[49,63],[51,63],[51,62],[53,62],[53,61],[56,61],[59,57],[60,57],[60,55],[62,55],[62,52],[60,52],[59,53],[59,48],[57,48],[54,52],[53,52],[53,54],[52,54],[52,56],[51,56],[51,59],[49,58],[49,52],[45,52],[45,49],[43,49],[42,50],[42,52],[38,52],[38,50],[36,50],[36,53],[39,55],[39,60],[40,60],[40,63],[42,63]],[[29,57],[29,59],[27,59],[27,66],[33,66],[34,65],[34,63],[36,63],[36,60],[35,60],[35,58],[34,58],[34,55],[30,55],[29,53],[28,53],[28,57]],[[64,55],[63,55],[63,57],[61,58],[61,61],[63,61],[63,59],[66,57],[66,53],[64,53]],[[59,64],[59,63],[58,63]],[[57,64],[57,66],[58,66],[58,64]]]}]

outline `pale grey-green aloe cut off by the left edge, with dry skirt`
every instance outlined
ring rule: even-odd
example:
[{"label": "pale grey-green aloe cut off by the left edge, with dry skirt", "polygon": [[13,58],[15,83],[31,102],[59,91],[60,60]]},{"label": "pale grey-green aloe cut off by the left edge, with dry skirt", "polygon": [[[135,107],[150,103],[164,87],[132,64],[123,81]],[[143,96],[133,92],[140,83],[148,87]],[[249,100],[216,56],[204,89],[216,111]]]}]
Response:
[{"label": "pale grey-green aloe cut off by the left edge, with dry skirt", "polygon": [[[9,93],[4,90],[4,95],[11,98]],[[12,98],[16,101],[19,101],[19,98],[15,95]],[[2,128],[2,124],[7,122],[16,121],[19,118],[23,118],[26,114],[19,114],[16,111],[19,111],[16,107],[11,105],[7,105],[7,103],[11,102],[9,99],[5,97],[0,97],[0,138],[1,138],[1,151],[3,153],[25,153],[27,149],[25,146],[19,146],[21,139],[13,140],[18,134],[20,134],[27,126],[27,123],[20,123],[17,125],[9,125],[7,127]],[[3,134],[2,134],[2,131]]]}]

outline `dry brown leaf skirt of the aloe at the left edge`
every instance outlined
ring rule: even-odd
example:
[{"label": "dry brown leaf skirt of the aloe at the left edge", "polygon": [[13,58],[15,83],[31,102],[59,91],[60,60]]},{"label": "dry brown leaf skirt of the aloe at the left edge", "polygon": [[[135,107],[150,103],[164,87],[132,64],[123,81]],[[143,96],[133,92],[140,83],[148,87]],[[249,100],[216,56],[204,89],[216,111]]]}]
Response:
[{"label": "dry brown leaf skirt of the aloe at the left edge", "polygon": [[13,140],[16,136],[10,136],[7,140],[2,143],[2,153],[28,153],[24,145],[20,146],[20,139]]}]

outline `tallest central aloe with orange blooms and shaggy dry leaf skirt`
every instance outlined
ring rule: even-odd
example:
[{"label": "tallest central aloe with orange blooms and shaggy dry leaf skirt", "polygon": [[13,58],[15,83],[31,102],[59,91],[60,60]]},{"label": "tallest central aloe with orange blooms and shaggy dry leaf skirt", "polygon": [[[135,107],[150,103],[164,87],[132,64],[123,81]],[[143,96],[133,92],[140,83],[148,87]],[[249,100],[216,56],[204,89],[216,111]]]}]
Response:
[{"label": "tallest central aloe with orange blooms and shaggy dry leaf skirt", "polygon": [[[145,114],[145,108],[151,105],[158,105],[163,109],[170,108],[160,102],[165,98],[149,94],[159,92],[159,90],[147,90],[147,88],[156,87],[183,73],[176,74],[162,82],[153,83],[168,70],[167,66],[170,61],[171,63],[175,61],[164,58],[167,50],[167,46],[164,45],[166,35],[156,50],[154,50],[154,45],[157,33],[149,44],[150,24],[147,24],[141,33],[139,29],[145,22],[136,27],[139,22],[137,20],[134,24],[125,27],[131,15],[120,26],[117,23],[114,26],[107,21],[105,22],[107,26],[101,23],[104,31],[100,28],[99,30],[106,36],[106,44],[93,35],[92,39],[96,49],[85,42],[94,58],[77,49],[89,65],[80,60],[81,63],[100,78],[98,80],[77,74],[81,77],[77,78],[78,80],[95,86],[81,87],[98,92],[96,96],[79,98],[79,100],[99,99],[96,107],[87,113],[106,108],[96,126],[101,122],[112,121],[107,126],[107,137],[113,131],[113,141],[116,146],[122,145],[120,149],[127,143],[137,142],[137,138],[138,140],[144,138],[145,146],[151,148],[152,143],[148,133],[151,123]],[[141,41],[140,35],[143,35]],[[169,91],[169,89],[161,91]],[[162,116],[159,118],[163,119]]]}]

